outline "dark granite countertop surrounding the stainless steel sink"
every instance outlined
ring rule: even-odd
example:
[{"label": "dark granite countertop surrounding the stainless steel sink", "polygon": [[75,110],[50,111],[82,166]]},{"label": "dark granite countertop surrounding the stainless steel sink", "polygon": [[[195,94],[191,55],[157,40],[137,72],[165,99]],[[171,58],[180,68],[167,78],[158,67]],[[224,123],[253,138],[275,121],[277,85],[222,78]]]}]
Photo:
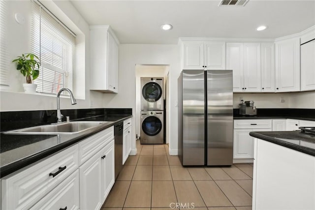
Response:
[{"label": "dark granite countertop surrounding the stainless steel sink", "polygon": [[130,117],[131,114],[107,114],[79,119],[80,121],[111,121],[80,134],[12,135],[1,132],[0,177],[9,175]]}]

